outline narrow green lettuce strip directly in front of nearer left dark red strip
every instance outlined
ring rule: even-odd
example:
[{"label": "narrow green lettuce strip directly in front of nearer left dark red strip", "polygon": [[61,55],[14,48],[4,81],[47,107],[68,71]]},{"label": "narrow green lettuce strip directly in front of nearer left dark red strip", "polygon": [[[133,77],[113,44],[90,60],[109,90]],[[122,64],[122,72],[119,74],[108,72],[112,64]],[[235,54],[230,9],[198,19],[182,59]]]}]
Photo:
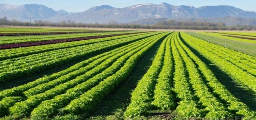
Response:
[{"label": "narrow green lettuce strip directly in front of nearer left dark red strip", "polygon": [[[115,36],[115,37],[109,37],[109,38],[91,39],[91,40],[81,40],[81,41],[74,41],[69,43],[56,43],[56,44],[49,44],[49,45],[20,47],[15,49],[4,49],[4,50],[1,50],[0,60],[6,60],[6,59],[17,58],[17,57],[22,57],[22,56],[27,56],[32,54],[54,51],[57,49],[82,46],[82,45],[93,44],[97,42],[104,42],[104,41],[127,38],[132,36],[145,35],[145,34],[148,34],[148,33],[131,34],[131,35],[123,35],[123,36]],[[151,35],[153,34],[151,33]]]}]

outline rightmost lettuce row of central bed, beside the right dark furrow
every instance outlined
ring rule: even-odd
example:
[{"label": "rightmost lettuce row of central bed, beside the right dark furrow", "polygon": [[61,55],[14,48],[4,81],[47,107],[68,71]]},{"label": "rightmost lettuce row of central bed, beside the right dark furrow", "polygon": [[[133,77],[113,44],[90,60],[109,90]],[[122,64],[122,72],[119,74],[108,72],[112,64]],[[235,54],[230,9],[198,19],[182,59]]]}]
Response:
[{"label": "rightmost lettuce row of central bed, beside the right dark furrow", "polygon": [[229,111],[237,111],[236,114],[240,116],[255,117],[256,113],[252,111],[244,103],[240,102],[238,98],[234,97],[228,89],[215,77],[212,71],[207,67],[207,65],[201,61],[182,41],[179,41],[181,47],[186,51],[191,59],[195,61],[198,65],[198,69],[202,72],[207,85],[213,88],[213,93],[220,96],[221,99],[229,103],[227,107]]}]

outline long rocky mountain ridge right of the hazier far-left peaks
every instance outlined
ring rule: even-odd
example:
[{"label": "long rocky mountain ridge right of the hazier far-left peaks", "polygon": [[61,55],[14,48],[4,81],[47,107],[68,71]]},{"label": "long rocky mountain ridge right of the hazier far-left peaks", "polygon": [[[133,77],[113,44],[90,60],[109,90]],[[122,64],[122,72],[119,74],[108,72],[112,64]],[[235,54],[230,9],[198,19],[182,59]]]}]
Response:
[{"label": "long rocky mountain ridge right of the hazier far-left peaks", "polygon": [[168,3],[161,4],[138,4],[125,8],[114,8],[111,6],[96,6],[82,13],[65,16],[62,20],[74,20],[77,22],[94,23],[108,22],[111,20],[127,23],[142,19],[153,18],[216,18],[216,17],[238,17],[256,18],[255,12],[247,12],[233,6],[173,6]]}]

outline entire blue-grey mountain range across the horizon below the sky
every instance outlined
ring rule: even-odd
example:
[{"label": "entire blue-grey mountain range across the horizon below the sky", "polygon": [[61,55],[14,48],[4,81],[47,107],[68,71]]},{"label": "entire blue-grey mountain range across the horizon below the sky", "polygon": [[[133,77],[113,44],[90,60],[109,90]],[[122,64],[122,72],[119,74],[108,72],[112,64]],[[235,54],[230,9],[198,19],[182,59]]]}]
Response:
[{"label": "entire blue-grey mountain range across the horizon below the sky", "polygon": [[[236,23],[251,24],[256,21],[256,12],[243,11],[242,9],[227,5],[202,6],[196,8],[194,6],[174,6],[168,3],[161,3],[137,4],[124,8],[102,5],[92,7],[80,13],[69,13],[65,10],[55,11],[52,8],[39,4],[25,4],[20,6],[0,4],[0,17],[20,21],[29,21],[27,18],[31,17],[32,21],[49,20],[57,22],[70,20],[82,23],[107,23],[109,21],[134,23],[134,21],[162,19],[230,23],[230,21],[228,21],[230,19],[236,19],[237,21],[241,19],[242,22]],[[246,21],[246,23],[243,21]]]}]

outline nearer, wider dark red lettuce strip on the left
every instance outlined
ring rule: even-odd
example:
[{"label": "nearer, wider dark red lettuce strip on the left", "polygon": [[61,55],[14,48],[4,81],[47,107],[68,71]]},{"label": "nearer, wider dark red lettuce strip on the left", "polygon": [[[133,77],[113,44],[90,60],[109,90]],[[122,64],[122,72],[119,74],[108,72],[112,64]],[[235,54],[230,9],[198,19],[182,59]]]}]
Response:
[{"label": "nearer, wider dark red lettuce strip on the left", "polygon": [[10,48],[18,48],[18,47],[29,47],[29,46],[37,46],[37,45],[45,45],[45,44],[55,44],[55,43],[61,43],[61,42],[72,42],[72,41],[79,41],[79,40],[88,40],[88,39],[96,39],[96,38],[113,37],[113,36],[120,36],[120,35],[139,34],[139,33],[146,33],[146,32],[123,33],[123,34],[114,34],[114,35],[102,35],[102,36],[68,38],[68,39],[59,39],[59,40],[45,40],[45,41],[34,41],[34,42],[4,44],[4,45],[0,45],[0,49],[10,49]]}]

